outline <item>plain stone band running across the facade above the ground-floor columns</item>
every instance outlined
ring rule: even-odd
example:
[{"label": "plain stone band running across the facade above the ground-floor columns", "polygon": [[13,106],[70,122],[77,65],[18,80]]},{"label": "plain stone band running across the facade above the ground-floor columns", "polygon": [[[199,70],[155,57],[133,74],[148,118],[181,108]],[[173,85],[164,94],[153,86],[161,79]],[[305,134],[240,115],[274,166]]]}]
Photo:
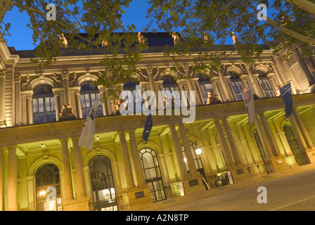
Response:
[{"label": "plain stone band running across the facade above the ground-floor columns", "polygon": [[[315,105],[315,94],[301,94],[293,96],[294,107]],[[271,110],[283,110],[284,104],[281,97],[262,98],[255,100],[255,113],[264,113]],[[200,105],[195,108],[195,121],[216,120],[233,115],[246,115],[243,101],[220,103],[215,105]],[[181,124],[183,116],[153,115],[153,126],[165,126],[167,124]],[[143,129],[146,116],[105,116],[96,117],[96,134],[115,131]],[[31,143],[36,141],[48,141],[53,139],[68,139],[72,136],[80,136],[85,119],[65,122],[51,122],[46,124],[32,124],[19,127],[1,128],[1,146]]]}]

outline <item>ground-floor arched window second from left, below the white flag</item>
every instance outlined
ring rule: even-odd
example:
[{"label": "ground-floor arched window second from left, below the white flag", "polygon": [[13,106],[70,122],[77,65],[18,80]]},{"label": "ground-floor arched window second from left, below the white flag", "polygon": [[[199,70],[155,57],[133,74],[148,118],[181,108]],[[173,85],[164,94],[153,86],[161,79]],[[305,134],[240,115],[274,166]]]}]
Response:
[{"label": "ground-floor arched window second from left, below the white flag", "polygon": [[94,210],[117,211],[117,200],[110,160],[104,155],[96,155],[90,164]]}]

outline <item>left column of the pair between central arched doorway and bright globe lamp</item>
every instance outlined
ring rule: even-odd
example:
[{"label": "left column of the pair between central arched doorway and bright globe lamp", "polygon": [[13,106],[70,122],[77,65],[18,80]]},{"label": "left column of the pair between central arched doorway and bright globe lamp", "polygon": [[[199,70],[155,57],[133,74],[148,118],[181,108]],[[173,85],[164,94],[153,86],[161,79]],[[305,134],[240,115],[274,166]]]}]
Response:
[{"label": "left column of the pair between central arched doorway and bright globe lamp", "polygon": [[179,136],[177,136],[176,128],[174,124],[169,124],[169,130],[171,131],[172,141],[174,146],[174,153],[176,155],[175,159],[177,160],[177,165],[179,165],[179,178],[183,179],[184,177],[189,176],[186,165],[184,162],[184,156],[181,152],[181,144],[179,143]]}]

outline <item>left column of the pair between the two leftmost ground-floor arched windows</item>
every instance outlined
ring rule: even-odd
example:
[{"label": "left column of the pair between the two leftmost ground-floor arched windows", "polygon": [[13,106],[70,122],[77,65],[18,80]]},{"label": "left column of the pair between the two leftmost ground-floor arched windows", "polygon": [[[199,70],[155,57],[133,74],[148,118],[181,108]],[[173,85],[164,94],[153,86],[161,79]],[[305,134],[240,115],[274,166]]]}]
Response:
[{"label": "left column of the pair between the two leftmost ground-floor arched windows", "polygon": [[70,167],[70,157],[68,150],[68,139],[61,139],[61,154],[63,161],[63,189],[64,189],[64,199],[65,201],[73,200],[72,192],[72,179],[71,179],[71,167]]}]

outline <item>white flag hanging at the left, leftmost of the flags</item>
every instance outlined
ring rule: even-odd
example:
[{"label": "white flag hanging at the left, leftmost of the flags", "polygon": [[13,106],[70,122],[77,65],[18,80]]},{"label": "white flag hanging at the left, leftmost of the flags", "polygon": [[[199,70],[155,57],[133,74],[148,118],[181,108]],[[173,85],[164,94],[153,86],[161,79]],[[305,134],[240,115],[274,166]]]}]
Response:
[{"label": "white flag hanging at the left, leftmost of the flags", "polygon": [[98,98],[93,104],[89,115],[86,117],[84,127],[79,139],[79,146],[88,150],[93,150],[94,135],[95,135],[95,117],[97,112]]}]

